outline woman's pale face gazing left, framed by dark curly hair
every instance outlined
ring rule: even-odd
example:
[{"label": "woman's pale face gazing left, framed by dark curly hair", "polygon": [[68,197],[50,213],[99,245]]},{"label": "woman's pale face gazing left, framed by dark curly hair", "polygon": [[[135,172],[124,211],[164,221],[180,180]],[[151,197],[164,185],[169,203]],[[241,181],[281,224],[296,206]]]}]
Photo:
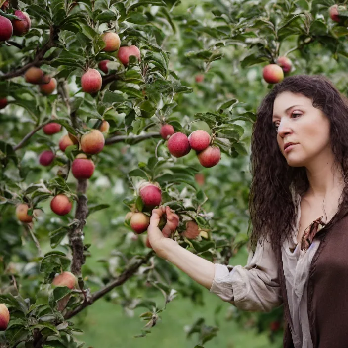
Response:
[{"label": "woman's pale face gazing left, framed by dark curly hair", "polygon": [[[280,151],[291,167],[306,167],[331,149],[329,119],[302,94],[280,93],[274,100],[272,122]],[[288,142],[296,145],[285,150]]]}]

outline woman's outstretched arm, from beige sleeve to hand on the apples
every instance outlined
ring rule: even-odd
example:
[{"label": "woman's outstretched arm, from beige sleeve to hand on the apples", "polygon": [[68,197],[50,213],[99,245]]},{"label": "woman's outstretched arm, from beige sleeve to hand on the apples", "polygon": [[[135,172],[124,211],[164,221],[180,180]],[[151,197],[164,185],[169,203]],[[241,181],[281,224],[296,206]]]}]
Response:
[{"label": "woman's outstretched arm, from beige sleeve to hand on the apples", "polygon": [[[161,231],[158,223],[164,213],[167,225]],[[172,262],[223,301],[240,309],[270,311],[282,303],[277,262],[269,242],[258,243],[248,264],[230,266],[231,270],[225,265],[207,261],[166,238],[177,223],[177,216],[168,206],[152,211],[147,232],[150,244],[159,257]]]}]

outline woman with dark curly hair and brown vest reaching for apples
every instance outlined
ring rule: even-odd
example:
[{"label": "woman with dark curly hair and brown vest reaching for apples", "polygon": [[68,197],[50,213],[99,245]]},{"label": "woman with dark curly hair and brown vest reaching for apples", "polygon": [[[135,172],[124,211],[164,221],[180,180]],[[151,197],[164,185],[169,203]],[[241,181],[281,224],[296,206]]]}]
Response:
[{"label": "woman with dark curly hair and brown vest reaching for apples", "polygon": [[214,264],[165,238],[163,207],[153,210],[150,243],[240,309],[284,303],[284,347],[348,347],[347,159],[347,100],[324,77],[288,77],[263,99],[253,126],[247,265]]}]

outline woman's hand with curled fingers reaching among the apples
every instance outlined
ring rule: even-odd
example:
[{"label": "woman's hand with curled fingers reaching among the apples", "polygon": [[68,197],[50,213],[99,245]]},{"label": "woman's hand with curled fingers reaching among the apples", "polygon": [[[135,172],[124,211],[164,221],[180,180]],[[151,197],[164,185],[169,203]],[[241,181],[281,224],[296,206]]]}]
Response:
[{"label": "woman's hand with curled fingers reaching among the apples", "polygon": [[[158,228],[158,224],[163,214],[166,214],[167,216],[167,223],[161,231]],[[173,210],[171,210],[169,206],[160,206],[159,208],[152,210],[150,225],[147,228],[147,235],[152,249],[159,257],[165,258],[166,247],[174,242],[168,237],[170,237],[172,231],[175,231],[178,224],[179,217],[174,213]]]}]

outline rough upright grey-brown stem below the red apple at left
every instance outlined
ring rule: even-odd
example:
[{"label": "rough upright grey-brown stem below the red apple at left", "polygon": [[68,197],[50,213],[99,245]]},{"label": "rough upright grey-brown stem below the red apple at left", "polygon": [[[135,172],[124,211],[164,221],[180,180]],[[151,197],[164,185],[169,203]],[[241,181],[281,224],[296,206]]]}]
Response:
[{"label": "rough upright grey-brown stem below the red apple at left", "polygon": [[75,212],[75,219],[78,220],[69,232],[70,247],[73,252],[73,261],[71,264],[71,272],[75,275],[81,274],[81,267],[85,263],[84,243],[82,241],[83,229],[86,225],[86,218],[88,213],[87,196],[87,179],[78,180],[77,193],[78,201]]}]

